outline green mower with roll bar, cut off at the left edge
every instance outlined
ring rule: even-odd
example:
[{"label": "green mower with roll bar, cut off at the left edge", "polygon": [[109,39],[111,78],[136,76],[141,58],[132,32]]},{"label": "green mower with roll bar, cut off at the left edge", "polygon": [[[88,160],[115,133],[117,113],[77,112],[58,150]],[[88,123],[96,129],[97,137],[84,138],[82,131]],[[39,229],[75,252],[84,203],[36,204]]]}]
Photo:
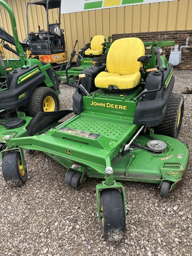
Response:
[{"label": "green mower with roll bar, cut off at the left edge", "polygon": [[[59,82],[49,63],[27,57],[28,44],[18,40],[14,12],[2,0],[0,5],[9,14],[13,34],[0,27],[1,49],[18,56],[18,59],[7,59],[0,51],[0,119],[7,127],[13,123],[13,127],[18,127],[22,124],[22,120],[17,119],[18,115],[22,116],[21,111],[33,117],[38,111],[59,110]],[[9,44],[15,46],[15,50]],[[12,124],[8,122],[10,117],[15,117]]]}]

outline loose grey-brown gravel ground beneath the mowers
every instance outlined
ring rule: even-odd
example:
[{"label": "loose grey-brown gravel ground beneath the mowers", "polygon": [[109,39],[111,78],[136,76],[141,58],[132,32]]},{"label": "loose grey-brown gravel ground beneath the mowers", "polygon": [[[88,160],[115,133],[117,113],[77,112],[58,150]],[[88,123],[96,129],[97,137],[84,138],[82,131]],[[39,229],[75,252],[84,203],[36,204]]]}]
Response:
[{"label": "loose grey-brown gravel ground beneath the mowers", "polygon": [[[175,71],[174,91],[191,89],[192,72]],[[72,108],[73,88],[61,85],[61,108]],[[192,146],[192,95],[184,94],[185,113],[179,140]],[[191,156],[190,156],[191,160]],[[97,217],[95,186],[81,190],[63,182],[66,169],[36,152],[26,155],[28,180],[9,188],[0,175],[0,255],[192,255],[192,174],[167,198],[158,185],[122,182],[126,190],[126,236],[106,242]],[[190,161],[191,162],[191,161]]]}]

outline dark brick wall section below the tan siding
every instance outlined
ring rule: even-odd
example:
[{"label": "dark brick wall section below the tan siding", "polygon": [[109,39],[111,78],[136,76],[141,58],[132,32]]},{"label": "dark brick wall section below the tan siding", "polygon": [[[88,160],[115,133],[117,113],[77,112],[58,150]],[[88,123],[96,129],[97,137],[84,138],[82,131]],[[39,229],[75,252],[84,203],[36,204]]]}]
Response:
[{"label": "dark brick wall section below the tan siding", "polygon": [[[182,49],[181,64],[174,66],[175,69],[192,70],[192,30],[184,31],[161,31],[161,32],[147,32],[147,33],[126,33],[126,34],[113,34],[114,40],[124,37],[139,37],[142,41],[175,41],[175,44],[185,46],[187,37],[190,37],[188,46],[190,48]],[[166,50],[166,56],[169,58],[171,49]]]}]

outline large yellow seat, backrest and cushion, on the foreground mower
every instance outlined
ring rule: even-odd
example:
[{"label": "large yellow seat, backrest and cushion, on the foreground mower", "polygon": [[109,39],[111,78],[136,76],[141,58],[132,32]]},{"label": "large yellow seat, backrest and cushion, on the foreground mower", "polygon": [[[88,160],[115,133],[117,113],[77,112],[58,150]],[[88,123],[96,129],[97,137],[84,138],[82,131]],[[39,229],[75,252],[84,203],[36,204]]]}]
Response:
[{"label": "large yellow seat, backrest and cushion, on the foreground mower", "polygon": [[142,62],[137,59],[145,55],[142,40],[136,37],[118,39],[111,44],[107,54],[107,72],[99,73],[95,78],[95,86],[116,89],[131,89],[140,82]]}]

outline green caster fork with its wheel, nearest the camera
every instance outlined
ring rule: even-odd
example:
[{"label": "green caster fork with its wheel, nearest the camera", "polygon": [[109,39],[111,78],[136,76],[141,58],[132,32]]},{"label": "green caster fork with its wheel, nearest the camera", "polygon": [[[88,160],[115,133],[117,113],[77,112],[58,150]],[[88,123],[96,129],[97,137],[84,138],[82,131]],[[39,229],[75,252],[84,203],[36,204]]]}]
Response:
[{"label": "green caster fork with its wheel, nearest the camera", "polygon": [[113,180],[113,169],[105,169],[105,181],[96,187],[98,218],[104,239],[117,241],[126,231],[124,187]]}]

